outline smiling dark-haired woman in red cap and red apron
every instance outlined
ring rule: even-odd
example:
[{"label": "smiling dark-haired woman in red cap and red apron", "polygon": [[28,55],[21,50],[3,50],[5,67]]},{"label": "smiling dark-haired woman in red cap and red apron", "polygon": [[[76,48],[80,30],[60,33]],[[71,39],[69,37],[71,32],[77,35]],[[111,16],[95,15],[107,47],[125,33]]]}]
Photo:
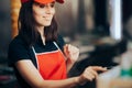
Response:
[{"label": "smiling dark-haired woman in red cap and red apron", "polygon": [[65,45],[57,33],[56,1],[21,0],[19,35],[9,45],[9,65],[14,68],[22,88],[72,88],[95,79],[98,70],[106,70],[94,66],[78,77],[67,78],[79,51]]}]

